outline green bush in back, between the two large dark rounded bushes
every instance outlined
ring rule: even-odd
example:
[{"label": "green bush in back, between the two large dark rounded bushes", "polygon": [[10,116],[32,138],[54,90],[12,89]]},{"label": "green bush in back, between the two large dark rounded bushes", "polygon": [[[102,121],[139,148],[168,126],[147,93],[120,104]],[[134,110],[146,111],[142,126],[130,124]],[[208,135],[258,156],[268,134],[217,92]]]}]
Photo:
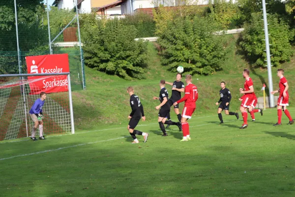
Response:
[{"label": "green bush in back, between the two large dark rounded bushes", "polygon": [[124,25],[133,25],[137,29],[137,37],[155,36],[155,22],[149,14],[136,12],[134,15],[126,15],[121,20]]}]

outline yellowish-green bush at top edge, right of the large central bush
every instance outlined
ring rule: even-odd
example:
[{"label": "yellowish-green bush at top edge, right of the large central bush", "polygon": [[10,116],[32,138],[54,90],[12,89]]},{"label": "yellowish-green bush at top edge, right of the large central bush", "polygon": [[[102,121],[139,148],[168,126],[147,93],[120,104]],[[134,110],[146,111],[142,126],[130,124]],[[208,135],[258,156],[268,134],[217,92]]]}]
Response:
[{"label": "yellowish-green bush at top edge, right of the large central bush", "polygon": [[209,15],[221,24],[223,29],[234,29],[242,25],[242,13],[232,0],[214,0],[212,3],[209,4]]}]

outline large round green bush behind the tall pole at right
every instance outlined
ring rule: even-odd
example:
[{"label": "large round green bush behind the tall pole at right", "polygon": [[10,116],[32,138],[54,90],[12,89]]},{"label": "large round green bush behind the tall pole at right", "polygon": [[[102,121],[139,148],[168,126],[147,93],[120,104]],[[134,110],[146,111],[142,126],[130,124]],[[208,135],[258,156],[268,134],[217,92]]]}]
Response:
[{"label": "large round green bush behind the tall pole at right", "polygon": [[[242,32],[242,40],[240,46],[245,51],[247,57],[251,62],[258,66],[266,65],[266,44],[264,34],[264,24],[262,13],[253,13],[250,21],[245,24],[245,30]],[[284,22],[277,19],[276,15],[267,15],[269,44],[271,56],[271,64],[279,66],[281,62],[290,60],[293,55],[290,41],[294,37],[294,30]]]}]

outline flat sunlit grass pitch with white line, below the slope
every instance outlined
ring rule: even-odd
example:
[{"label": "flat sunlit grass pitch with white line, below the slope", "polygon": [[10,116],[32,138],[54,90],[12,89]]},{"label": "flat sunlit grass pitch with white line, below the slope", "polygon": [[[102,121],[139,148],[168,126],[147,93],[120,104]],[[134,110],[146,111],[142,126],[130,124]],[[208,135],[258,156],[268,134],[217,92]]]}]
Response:
[{"label": "flat sunlit grass pitch with white line, below the slope", "polygon": [[[295,114],[295,108],[290,108]],[[295,135],[276,110],[241,120],[217,114],[189,121],[192,140],[156,119],[141,122],[147,143],[131,144],[127,123],[47,140],[0,143],[1,197],[294,197]],[[175,114],[174,114],[175,116]],[[250,121],[250,117],[248,118]]]}]

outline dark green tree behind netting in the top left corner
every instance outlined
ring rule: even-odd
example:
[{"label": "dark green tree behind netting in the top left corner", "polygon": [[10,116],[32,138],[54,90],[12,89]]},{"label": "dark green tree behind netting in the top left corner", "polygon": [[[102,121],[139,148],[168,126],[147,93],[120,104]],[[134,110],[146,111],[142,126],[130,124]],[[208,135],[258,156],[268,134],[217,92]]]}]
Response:
[{"label": "dark green tree behind netting in the top left corner", "polygon": [[[22,51],[28,51],[47,41],[46,28],[40,27],[42,0],[18,0],[18,31]],[[17,51],[14,1],[0,1],[0,51]]]}]

